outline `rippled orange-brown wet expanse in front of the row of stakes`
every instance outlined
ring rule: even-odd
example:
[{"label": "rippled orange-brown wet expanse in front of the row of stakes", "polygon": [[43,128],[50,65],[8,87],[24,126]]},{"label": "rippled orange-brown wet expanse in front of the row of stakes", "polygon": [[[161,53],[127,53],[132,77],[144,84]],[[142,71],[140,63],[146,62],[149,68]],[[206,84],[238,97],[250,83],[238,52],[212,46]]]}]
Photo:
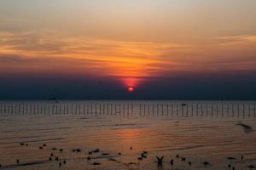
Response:
[{"label": "rippled orange-brown wet expanse in front of the row of stakes", "polygon": [[[0,122],[3,169],[217,170],[256,165],[255,118],[2,116]],[[253,130],[247,133],[248,127]],[[163,162],[156,156],[164,156]]]}]

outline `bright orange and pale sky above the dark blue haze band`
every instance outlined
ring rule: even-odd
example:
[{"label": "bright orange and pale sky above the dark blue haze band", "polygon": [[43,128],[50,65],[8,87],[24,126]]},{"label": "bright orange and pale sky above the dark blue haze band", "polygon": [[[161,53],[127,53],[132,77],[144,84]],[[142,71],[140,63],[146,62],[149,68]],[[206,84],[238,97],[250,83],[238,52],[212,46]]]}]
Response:
[{"label": "bright orange and pale sky above the dark blue haze band", "polygon": [[0,71],[116,77],[256,70],[256,3],[2,0]]}]

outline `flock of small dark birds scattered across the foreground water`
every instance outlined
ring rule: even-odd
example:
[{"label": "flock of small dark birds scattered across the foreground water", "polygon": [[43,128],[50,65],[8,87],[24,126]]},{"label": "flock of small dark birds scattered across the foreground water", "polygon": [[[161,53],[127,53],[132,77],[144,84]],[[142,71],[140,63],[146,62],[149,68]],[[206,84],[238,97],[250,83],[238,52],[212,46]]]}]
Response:
[{"label": "flock of small dark birds scattered across the foreground water", "polygon": [[[28,146],[28,144],[25,144],[25,143],[20,143],[20,146]],[[44,150],[44,148],[47,147],[47,144],[41,144],[40,146],[38,146],[38,149],[39,150]],[[58,153],[62,153],[64,150],[63,149],[57,149],[55,147],[51,148],[51,152],[49,153],[49,159],[48,161],[56,161],[58,163],[58,166],[61,168],[62,166],[65,166],[67,164],[67,160],[65,159],[60,159],[58,154],[56,153],[56,151],[58,151]],[[132,147],[130,147],[130,150],[133,150]],[[82,149],[73,149],[72,150],[73,153],[79,153],[79,152],[82,152]],[[104,153],[102,152],[100,149],[95,149],[95,150],[90,150],[88,151],[88,156],[85,157],[85,159],[90,163],[90,165],[93,165],[93,166],[98,166],[98,165],[101,165],[100,162],[94,160],[94,155],[98,153],[98,154],[101,154],[102,156],[109,156],[110,154],[108,153]],[[119,156],[122,155],[121,152],[118,153]],[[127,167],[129,167],[130,165],[137,165],[140,161],[143,161],[144,159],[148,158],[148,151],[147,150],[143,150],[140,155],[137,157],[137,161],[138,162],[130,162],[130,163],[124,163]],[[228,160],[236,160],[235,157],[228,157],[227,158]],[[244,156],[241,156],[240,157],[240,161],[244,161]],[[112,161],[116,161],[115,159],[112,158]],[[192,166],[192,161],[188,161],[188,159],[184,156],[179,156],[179,155],[176,155],[176,157],[174,159],[171,159],[168,163],[171,165],[171,167],[174,167],[174,165],[176,163],[185,163],[187,165],[189,165],[189,167]],[[120,161],[119,161],[120,162]],[[154,161],[157,165],[158,168],[161,168],[163,167],[164,165],[164,156],[155,156],[155,161]],[[202,161],[201,164],[207,168],[207,167],[210,167],[212,166],[212,164],[208,161]],[[29,165],[29,163],[20,163],[20,159],[16,159],[16,166],[24,166],[24,165]],[[238,168],[235,167],[235,165],[232,165],[231,163],[227,165],[228,169],[230,170],[236,170]],[[0,164],[0,168],[3,168],[3,165]],[[247,169],[254,169],[256,168],[253,164],[250,164],[250,165],[247,165]],[[130,169],[130,168],[129,168]],[[178,170],[178,168],[172,168],[172,170]]]}]

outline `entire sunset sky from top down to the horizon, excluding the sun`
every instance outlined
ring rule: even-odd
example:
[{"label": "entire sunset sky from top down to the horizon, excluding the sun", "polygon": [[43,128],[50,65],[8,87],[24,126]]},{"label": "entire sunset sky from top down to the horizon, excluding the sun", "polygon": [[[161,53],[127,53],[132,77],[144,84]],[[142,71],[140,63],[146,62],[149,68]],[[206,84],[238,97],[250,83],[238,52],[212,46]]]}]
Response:
[{"label": "entire sunset sky from top down to the horizon, excluding the sun", "polygon": [[256,99],[255,87],[256,1],[0,1],[0,99]]}]

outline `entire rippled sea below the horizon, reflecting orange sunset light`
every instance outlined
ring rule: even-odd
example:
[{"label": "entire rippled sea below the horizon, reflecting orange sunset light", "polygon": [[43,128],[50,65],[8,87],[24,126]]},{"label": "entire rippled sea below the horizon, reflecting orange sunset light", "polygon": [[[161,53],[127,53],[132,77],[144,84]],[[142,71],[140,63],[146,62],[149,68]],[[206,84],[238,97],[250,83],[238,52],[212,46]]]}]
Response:
[{"label": "entire rippled sea below the horizon, reflecting orange sunset light", "polygon": [[[0,113],[3,169],[249,169],[256,165],[253,101],[3,101]],[[147,158],[139,160],[143,150]],[[161,166],[156,156],[164,156]]]}]

